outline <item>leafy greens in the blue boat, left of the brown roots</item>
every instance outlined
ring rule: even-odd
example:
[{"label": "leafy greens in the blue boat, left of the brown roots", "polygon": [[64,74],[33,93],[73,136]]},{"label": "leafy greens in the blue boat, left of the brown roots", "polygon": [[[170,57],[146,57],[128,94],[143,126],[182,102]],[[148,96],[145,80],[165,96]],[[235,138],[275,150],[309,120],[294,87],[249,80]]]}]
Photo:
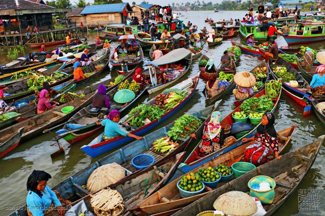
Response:
[{"label": "leafy greens in the blue boat, left of the brown roots", "polygon": [[140,104],[137,107],[134,107],[128,115],[127,119],[131,118],[136,113],[140,113],[129,122],[133,127],[142,127],[144,126],[144,120],[149,119],[150,121],[160,120],[160,117],[163,116],[166,111],[160,109],[158,106],[150,106],[148,104]]}]

